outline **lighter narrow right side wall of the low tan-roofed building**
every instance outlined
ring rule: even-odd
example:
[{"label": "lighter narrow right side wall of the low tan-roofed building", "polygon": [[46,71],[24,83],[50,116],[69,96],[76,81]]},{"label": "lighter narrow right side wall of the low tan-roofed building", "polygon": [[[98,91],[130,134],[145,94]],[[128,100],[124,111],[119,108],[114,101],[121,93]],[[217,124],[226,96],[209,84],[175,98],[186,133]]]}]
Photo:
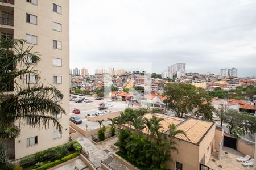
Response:
[{"label": "lighter narrow right side wall of the low tan-roofed building", "polygon": [[[210,155],[212,154],[212,148],[214,143],[216,125],[214,124],[212,128],[205,135],[203,140],[199,143],[199,162],[204,157],[205,162],[203,164],[208,164]],[[199,165],[199,164],[198,164]]]}]

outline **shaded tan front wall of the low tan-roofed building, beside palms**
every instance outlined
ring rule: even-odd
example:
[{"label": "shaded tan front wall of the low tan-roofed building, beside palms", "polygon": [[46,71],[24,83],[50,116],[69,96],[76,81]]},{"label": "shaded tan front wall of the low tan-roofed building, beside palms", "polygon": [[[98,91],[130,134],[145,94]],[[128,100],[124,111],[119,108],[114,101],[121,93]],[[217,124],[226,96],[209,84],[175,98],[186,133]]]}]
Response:
[{"label": "shaded tan front wall of the low tan-roofed building, beside palms", "polygon": [[171,152],[171,158],[174,163],[167,162],[166,165],[168,169],[176,169],[176,161],[183,164],[183,170],[198,170],[199,166],[199,146],[193,143],[182,141],[180,139],[174,138],[177,142],[177,152]]}]

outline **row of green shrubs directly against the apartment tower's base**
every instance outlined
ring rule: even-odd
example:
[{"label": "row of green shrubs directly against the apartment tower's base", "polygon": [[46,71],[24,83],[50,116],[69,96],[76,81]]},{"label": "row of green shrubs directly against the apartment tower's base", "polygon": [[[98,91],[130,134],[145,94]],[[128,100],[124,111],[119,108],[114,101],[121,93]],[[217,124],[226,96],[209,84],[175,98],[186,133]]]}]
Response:
[{"label": "row of green shrubs directly against the apartment tower's base", "polygon": [[51,152],[57,147],[67,148],[68,150],[74,150],[75,152],[80,152],[82,150],[82,146],[77,141],[70,141],[64,145],[52,147],[47,150],[37,152],[36,154],[25,156],[20,160],[19,165],[22,167],[29,167],[30,165],[34,165],[38,162],[43,162],[49,158]]}]

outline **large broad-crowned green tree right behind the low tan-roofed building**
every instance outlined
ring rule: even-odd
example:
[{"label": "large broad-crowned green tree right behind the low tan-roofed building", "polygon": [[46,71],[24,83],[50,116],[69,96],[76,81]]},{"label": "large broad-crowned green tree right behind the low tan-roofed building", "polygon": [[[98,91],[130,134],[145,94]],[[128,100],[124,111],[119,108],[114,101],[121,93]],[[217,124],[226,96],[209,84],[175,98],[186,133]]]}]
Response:
[{"label": "large broad-crowned green tree right behind the low tan-roofed building", "polygon": [[213,106],[210,104],[209,92],[203,88],[197,88],[191,84],[167,84],[164,86],[164,102],[172,109],[177,117],[183,117],[185,113],[195,112],[197,117],[212,120]]}]

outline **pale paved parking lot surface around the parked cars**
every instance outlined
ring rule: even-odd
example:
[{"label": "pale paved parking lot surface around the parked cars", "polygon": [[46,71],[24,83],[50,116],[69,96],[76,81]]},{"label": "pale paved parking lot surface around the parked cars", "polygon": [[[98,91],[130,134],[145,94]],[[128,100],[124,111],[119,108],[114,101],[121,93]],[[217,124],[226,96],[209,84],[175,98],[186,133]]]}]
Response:
[{"label": "pale paved parking lot surface around the parked cars", "polygon": [[[102,102],[105,103],[110,103],[113,106],[112,107],[108,107],[108,111],[111,112],[116,112],[116,111],[123,111],[125,110],[125,108],[128,107],[128,103],[126,103],[125,101],[112,101],[112,102],[107,102],[108,99],[105,100],[94,100],[92,97],[86,97],[86,99],[92,99],[93,102],[91,103],[75,103],[74,101],[69,101],[69,113],[70,116],[75,115],[74,113],[72,113],[73,109],[79,109],[81,111],[80,114],[76,114],[76,116],[79,116],[82,118],[82,124],[77,124],[79,125],[82,129],[86,129],[86,125],[87,130],[92,130],[92,129],[96,129],[96,128],[100,128],[100,125],[98,124],[98,122],[94,122],[94,121],[87,121],[87,119],[85,118],[85,116],[87,114],[90,113],[95,113],[96,111],[98,111],[98,107],[100,106],[99,104]],[[102,110],[105,111],[105,110]],[[111,113],[110,113],[111,114]],[[108,125],[109,121],[104,121],[103,125]]]}]

